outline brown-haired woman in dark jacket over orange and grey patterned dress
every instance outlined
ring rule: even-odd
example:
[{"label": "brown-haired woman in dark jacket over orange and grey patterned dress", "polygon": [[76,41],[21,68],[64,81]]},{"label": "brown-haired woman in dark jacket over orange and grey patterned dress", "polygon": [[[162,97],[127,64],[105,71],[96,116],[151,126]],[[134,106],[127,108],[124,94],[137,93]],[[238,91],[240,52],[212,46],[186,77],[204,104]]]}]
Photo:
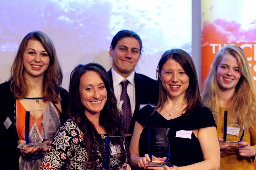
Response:
[{"label": "brown-haired woman in dark jacket over orange and grey patterned dress", "polygon": [[[21,41],[11,78],[1,84],[1,169],[38,169],[46,148],[25,144],[25,112],[30,111],[29,143],[50,144],[67,120],[68,93],[51,39],[41,31]],[[20,159],[20,160],[19,160]]]}]

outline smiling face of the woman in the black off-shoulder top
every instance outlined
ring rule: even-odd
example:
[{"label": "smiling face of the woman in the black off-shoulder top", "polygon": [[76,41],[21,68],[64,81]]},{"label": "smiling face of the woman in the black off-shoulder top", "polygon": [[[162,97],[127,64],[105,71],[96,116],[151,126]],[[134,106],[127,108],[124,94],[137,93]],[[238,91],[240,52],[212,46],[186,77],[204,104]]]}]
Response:
[{"label": "smiling face of the woman in the black off-shoulder top", "polygon": [[158,75],[169,99],[185,98],[189,87],[189,76],[177,61],[168,59],[162,66],[161,72],[158,71]]}]

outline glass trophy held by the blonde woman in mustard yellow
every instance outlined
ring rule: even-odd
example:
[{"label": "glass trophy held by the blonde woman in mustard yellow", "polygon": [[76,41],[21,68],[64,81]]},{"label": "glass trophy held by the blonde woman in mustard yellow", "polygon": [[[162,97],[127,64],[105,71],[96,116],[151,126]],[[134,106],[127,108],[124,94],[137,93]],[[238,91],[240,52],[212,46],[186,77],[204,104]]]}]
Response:
[{"label": "glass trophy held by the blonde woman in mustard yellow", "polygon": [[244,127],[241,126],[240,118],[234,118],[228,111],[224,111],[224,126],[223,126],[223,142],[220,146],[228,144],[229,146],[239,146],[244,137]]}]

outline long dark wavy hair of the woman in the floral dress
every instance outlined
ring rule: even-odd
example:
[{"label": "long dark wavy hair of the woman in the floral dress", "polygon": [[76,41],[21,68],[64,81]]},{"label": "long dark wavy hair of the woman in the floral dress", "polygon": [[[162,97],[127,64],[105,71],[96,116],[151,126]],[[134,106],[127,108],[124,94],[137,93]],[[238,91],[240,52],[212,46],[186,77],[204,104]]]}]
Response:
[{"label": "long dark wavy hair of the woman in the floral dress", "polygon": [[[77,65],[71,72],[69,85],[69,106],[68,113],[77,123],[80,130],[84,133],[84,146],[87,150],[90,162],[96,163],[97,147],[102,155],[105,155],[103,140],[96,131],[94,125],[88,120],[84,114],[85,107],[81,103],[79,84],[80,78],[87,71],[95,71],[103,80],[107,90],[107,102],[100,111],[100,125],[103,126],[108,136],[123,136],[122,114],[117,109],[117,99],[113,90],[110,88],[110,80],[107,71],[97,63],[89,63],[87,65]],[[128,148],[126,146],[126,148]],[[127,150],[128,151],[128,150]],[[128,151],[129,153],[129,151]],[[128,154],[129,156],[129,154]]]}]

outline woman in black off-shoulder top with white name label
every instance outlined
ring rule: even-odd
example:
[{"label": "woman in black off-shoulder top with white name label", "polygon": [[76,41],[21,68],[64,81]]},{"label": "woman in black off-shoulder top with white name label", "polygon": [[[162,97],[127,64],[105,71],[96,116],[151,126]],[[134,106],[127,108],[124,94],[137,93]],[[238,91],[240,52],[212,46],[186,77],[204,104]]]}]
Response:
[{"label": "woman in black off-shoulder top with white name label", "polygon": [[[145,167],[151,161],[147,154],[148,128],[160,127],[170,128],[168,161],[176,166],[158,169],[218,169],[216,125],[211,111],[202,104],[192,58],[181,49],[168,50],[162,55],[157,72],[159,102],[156,106],[147,105],[137,116],[130,143],[131,166],[150,169]],[[180,130],[191,133],[191,138],[178,137]],[[152,157],[152,161],[164,160]]]}]

